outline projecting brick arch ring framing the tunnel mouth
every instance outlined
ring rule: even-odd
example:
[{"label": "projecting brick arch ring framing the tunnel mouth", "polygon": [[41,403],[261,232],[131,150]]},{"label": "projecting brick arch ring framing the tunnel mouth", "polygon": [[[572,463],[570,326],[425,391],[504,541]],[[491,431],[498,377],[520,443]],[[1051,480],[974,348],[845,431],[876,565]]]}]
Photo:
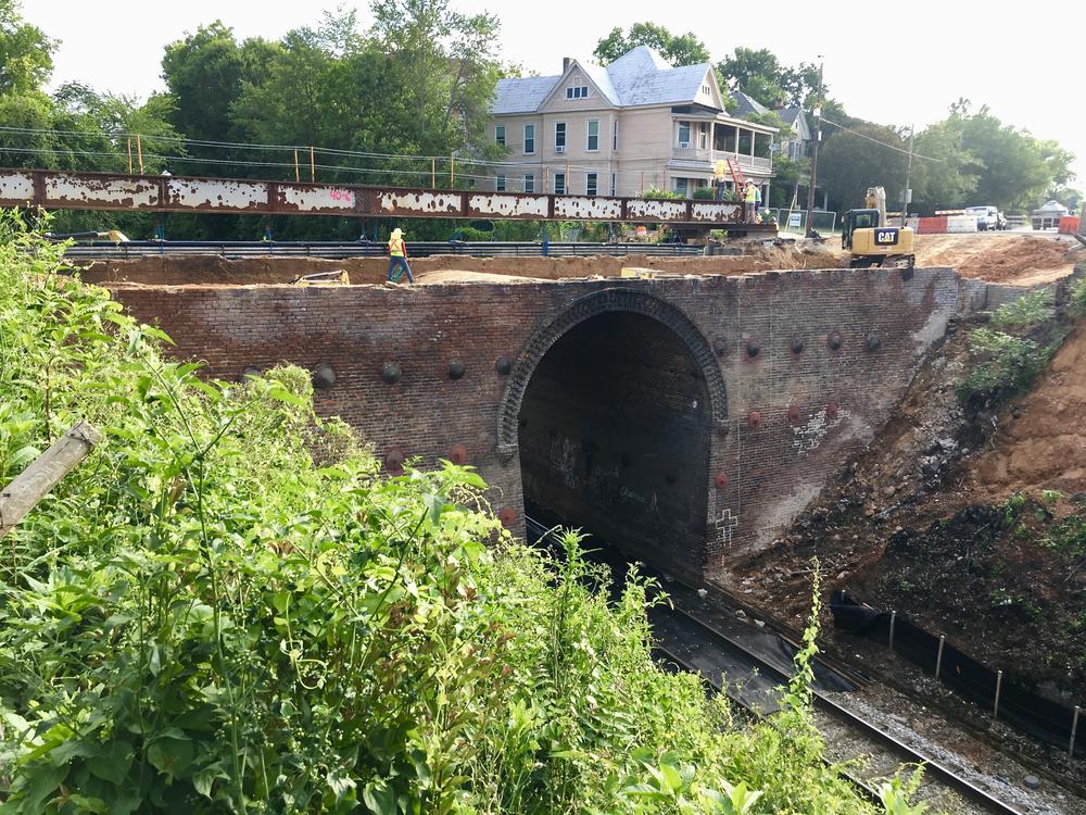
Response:
[{"label": "projecting brick arch ring framing the tunnel mouth", "polygon": [[574,300],[555,319],[535,331],[517,355],[505,392],[497,410],[497,455],[509,462],[519,446],[517,417],[535,367],[551,347],[576,325],[609,312],[630,312],[662,323],[682,340],[697,362],[709,390],[712,424],[720,432],[728,431],[728,393],[724,377],[712,346],[693,321],[674,305],[653,294],[622,288],[610,288]]}]

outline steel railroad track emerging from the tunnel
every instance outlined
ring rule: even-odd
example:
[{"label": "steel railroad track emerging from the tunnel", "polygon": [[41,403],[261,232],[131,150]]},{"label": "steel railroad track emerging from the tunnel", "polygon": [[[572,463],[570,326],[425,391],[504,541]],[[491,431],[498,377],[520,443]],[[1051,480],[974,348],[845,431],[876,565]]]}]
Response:
[{"label": "steel railroad track emerging from the tunnel", "polygon": [[[547,527],[538,521],[526,521],[536,537],[547,531]],[[649,609],[648,615],[656,639],[654,649],[664,661],[697,674],[708,687],[725,693],[750,715],[768,717],[780,710],[780,687],[791,679],[791,675],[782,669],[780,660],[755,653],[682,607],[655,605]],[[817,677],[812,687],[815,723],[825,739],[833,761],[859,760],[845,777],[866,798],[877,802],[874,783],[894,776],[901,765],[923,764],[924,782],[915,798],[929,803],[930,811],[954,815],[1022,815],[1021,810],[999,800],[943,762],[902,742],[831,697],[834,692],[848,689],[820,681]]]}]

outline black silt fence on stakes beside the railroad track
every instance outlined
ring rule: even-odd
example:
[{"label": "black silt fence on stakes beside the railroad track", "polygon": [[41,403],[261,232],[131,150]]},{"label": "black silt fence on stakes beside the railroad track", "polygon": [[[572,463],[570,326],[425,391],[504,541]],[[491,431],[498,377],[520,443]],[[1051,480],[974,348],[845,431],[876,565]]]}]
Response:
[{"label": "black silt fence on stakes beside the railroad track", "polygon": [[937,668],[939,681],[958,695],[1034,738],[1086,756],[1086,738],[1076,738],[1072,748],[1072,730],[1077,729],[1075,709],[1002,678],[1000,672],[982,665],[948,642],[943,644],[940,660],[939,637],[891,612],[861,605],[843,591],[833,593],[830,611],[834,627],[876,642],[891,643],[893,625],[893,650],[932,673]]}]

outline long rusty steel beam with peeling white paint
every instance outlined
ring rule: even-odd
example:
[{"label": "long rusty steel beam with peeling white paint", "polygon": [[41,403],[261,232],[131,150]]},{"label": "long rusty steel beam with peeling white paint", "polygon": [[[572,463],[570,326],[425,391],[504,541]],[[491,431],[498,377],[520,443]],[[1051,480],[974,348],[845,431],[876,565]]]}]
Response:
[{"label": "long rusty steel beam with peeling white paint", "polygon": [[0,206],[245,215],[635,221],[730,226],[743,204],[0,168]]}]

